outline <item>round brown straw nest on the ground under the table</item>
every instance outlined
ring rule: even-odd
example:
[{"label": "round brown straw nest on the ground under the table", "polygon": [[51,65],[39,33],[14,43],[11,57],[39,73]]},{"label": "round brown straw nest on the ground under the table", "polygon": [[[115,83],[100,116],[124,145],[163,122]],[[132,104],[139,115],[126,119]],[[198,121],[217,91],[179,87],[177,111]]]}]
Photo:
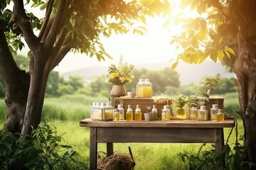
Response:
[{"label": "round brown straw nest on the ground under the table", "polygon": [[97,165],[97,169],[101,170],[132,170],[135,162],[129,154],[114,152],[110,157],[98,159]]}]

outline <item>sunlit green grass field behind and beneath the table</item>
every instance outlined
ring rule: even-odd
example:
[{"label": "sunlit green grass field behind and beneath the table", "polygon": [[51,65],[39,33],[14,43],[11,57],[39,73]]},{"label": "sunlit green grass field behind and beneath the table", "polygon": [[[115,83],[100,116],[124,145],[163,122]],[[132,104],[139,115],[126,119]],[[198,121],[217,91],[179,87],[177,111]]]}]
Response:
[{"label": "sunlit green grass field behind and beneath the table", "polygon": [[[230,111],[238,110],[237,94],[224,96],[224,108]],[[89,128],[80,128],[79,121],[90,117],[90,106],[93,101],[106,102],[104,97],[92,98],[82,95],[63,96],[60,98],[46,98],[43,108],[43,120],[48,124],[55,125],[58,135],[63,135],[63,144],[73,146],[86,162],[89,161]],[[0,101],[1,127],[4,122],[4,101]],[[225,110],[226,111],[226,110]],[[228,112],[228,111],[227,111]],[[235,115],[235,117],[238,117]],[[225,129],[225,140],[228,137],[230,128]],[[239,135],[243,135],[242,121],[238,120]],[[230,135],[229,144],[235,142],[235,130]],[[178,152],[197,153],[202,144],[152,144],[152,143],[117,143],[114,144],[114,151],[129,153],[128,147],[132,148],[136,169],[187,169],[177,156]],[[98,151],[105,152],[106,146],[100,144]],[[232,148],[232,147],[231,147]],[[207,144],[203,150],[210,150],[213,147]]]}]

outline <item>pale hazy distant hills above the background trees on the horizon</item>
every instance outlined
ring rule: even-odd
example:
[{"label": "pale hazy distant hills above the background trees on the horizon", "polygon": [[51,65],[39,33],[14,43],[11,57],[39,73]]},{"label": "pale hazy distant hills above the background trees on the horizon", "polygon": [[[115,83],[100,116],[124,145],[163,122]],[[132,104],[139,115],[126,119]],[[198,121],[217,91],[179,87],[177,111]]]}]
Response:
[{"label": "pale hazy distant hills above the background trees on the horizon", "polygon": [[[152,69],[160,70],[164,68],[171,67],[171,63],[154,63],[154,64],[140,64],[135,65],[136,69]],[[78,69],[72,72],[65,72],[61,74],[64,79],[72,75],[80,75],[85,79],[85,82],[90,82],[95,77],[100,77],[107,74],[107,67],[86,67],[84,69]],[[235,77],[234,73],[226,72],[225,67],[223,67],[220,62],[214,63],[210,60],[206,60],[202,64],[187,64],[185,62],[180,62],[176,68],[176,72],[180,74],[180,81],[182,85],[185,84],[199,84],[201,79],[206,76],[214,76],[215,74],[221,74],[222,77]]]}]

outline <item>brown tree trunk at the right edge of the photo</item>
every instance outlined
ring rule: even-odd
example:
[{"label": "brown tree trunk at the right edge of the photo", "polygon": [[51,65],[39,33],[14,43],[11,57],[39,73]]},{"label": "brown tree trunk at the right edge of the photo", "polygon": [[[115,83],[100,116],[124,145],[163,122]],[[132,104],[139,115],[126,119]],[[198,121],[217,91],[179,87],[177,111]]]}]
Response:
[{"label": "brown tree trunk at the right edge of the photo", "polygon": [[235,60],[238,98],[245,129],[247,161],[256,163],[256,47],[240,38],[239,54]]}]

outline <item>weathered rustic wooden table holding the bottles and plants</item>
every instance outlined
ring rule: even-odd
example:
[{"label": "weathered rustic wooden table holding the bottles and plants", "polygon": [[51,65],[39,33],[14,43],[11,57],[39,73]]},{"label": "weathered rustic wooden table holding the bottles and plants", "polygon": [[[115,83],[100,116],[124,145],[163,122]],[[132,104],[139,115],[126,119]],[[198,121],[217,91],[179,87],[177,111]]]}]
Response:
[{"label": "weathered rustic wooden table holding the bottles and plants", "polygon": [[213,120],[119,121],[103,122],[90,118],[80,127],[90,128],[90,169],[97,169],[97,143],[107,143],[107,156],[113,154],[113,142],[215,143],[222,153],[223,128],[233,128],[233,119],[217,123]]}]

